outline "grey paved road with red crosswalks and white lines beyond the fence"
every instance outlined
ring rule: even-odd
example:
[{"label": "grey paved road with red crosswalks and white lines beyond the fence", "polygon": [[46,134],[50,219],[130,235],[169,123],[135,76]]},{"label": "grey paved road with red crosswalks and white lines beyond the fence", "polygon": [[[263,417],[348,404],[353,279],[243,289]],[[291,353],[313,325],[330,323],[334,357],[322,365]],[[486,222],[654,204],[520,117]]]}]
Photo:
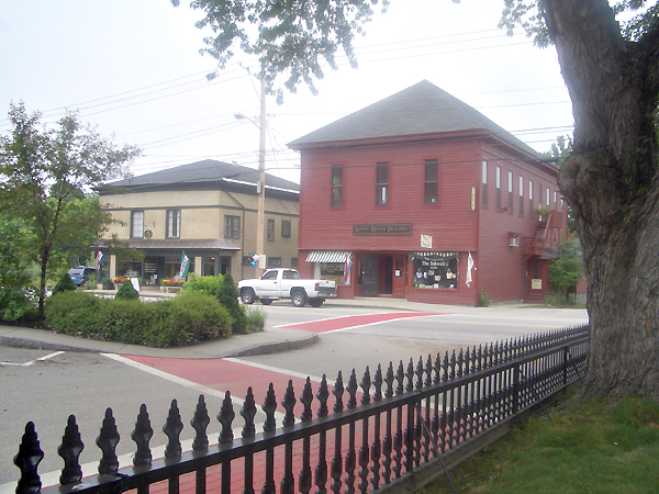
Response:
[{"label": "grey paved road with red crosswalks and white lines beyond the fence", "polygon": [[[444,352],[520,335],[572,326],[587,321],[582,311],[518,310],[470,312],[467,314],[405,313],[324,306],[297,310],[272,305],[268,312],[271,326],[286,325],[298,330],[321,334],[319,344],[284,353],[239,359],[171,359],[116,353],[54,352],[0,347],[0,492],[13,492],[19,471],[11,460],[18,451],[20,436],[27,420],[34,420],[46,457],[40,472],[55,472],[44,478],[57,479],[62,459],[55,450],[69,414],[78,418],[86,450],[82,463],[91,463],[93,473],[100,451],[94,445],[108,406],[114,411],[122,440],[118,452],[130,462],[134,444],[130,439],[139,405],[146,403],[154,428],[153,446],[163,446],[161,433],[171,398],[177,398],[186,428],[181,439],[192,438],[188,427],[200,393],[206,396],[209,414],[214,417],[225,391],[235,400],[236,416],[248,386],[254,388],[256,403],[261,404],[270,382],[281,402],[289,380],[297,395],[304,378],[312,377],[314,390],[323,373],[334,380],[338,370],[357,369],[361,378],[366,366],[371,373],[378,363],[390,360],[416,361],[418,356]],[[291,324],[292,322],[292,324]],[[42,359],[42,360],[40,360]],[[347,375],[346,375],[347,378]],[[281,407],[280,407],[281,409]],[[299,415],[299,411],[298,414]],[[239,435],[238,420],[236,422]],[[216,440],[219,424],[209,427]],[[156,452],[154,454],[157,454]],[[9,484],[4,484],[10,482]]]}]

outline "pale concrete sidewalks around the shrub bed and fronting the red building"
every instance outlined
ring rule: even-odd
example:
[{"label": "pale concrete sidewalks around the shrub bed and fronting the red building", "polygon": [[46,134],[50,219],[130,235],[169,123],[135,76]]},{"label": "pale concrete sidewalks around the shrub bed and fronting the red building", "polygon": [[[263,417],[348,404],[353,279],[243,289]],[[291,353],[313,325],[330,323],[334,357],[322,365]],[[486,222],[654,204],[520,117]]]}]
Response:
[{"label": "pale concrete sidewalks around the shrub bed and fronting the red building", "polygon": [[[111,291],[102,292],[113,295]],[[161,299],[171,296],[163,292],[144,292],[144,299]],[[289,301],[275,302],[289,305]],[[256,304],[255,306],[258,306]],[[326,301],[323,307],[359,307],[370,308],[373,312],[401,311],[401,312],[439,312],[439,313],[470,313],[484,311],[484,308],[436,305],[407,302],[403,299],[391,297],[360,297],[355,300],[333,299]],[[322,317],[323,307],[319,311]],[[506,305],[505,307],[512,307]],[[266,355],[313,345],[319,340],[319,335],[299,329],[267,328],[264,333],[252,335],[234,335],[228,339],[203,343],[181,348],[150,348],[138,345],[125,345],[111,341],[97,341],[81,339],[74,336],[55,334],[44,329],[25,328],[18,326],[0,326],[0,346],[38,348],[45,350],[64,351],[94,351],[103,353],[141,355],[148,357],[166,357],[181,359],[208,359],[224,357],[245,357]]]}]

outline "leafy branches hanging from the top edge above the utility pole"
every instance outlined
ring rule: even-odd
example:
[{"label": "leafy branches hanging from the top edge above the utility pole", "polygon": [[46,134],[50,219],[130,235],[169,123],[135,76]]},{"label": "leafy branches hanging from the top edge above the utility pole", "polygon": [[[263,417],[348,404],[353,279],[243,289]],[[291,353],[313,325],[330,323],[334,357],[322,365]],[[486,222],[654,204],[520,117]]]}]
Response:
[{"label": "leafy branches hanging from the top edge above the utility pole", "polygon": [[[180,0],[171,3],[178,7]],[[337,53],[357,67],[353,41],[378,3],[384,11],[389,0],[193,0],[190,7],[204,12],[197,27],[210,29],[213,36],[204,38],[201,53],[213,56],[219,69],[238,48],[258,56],[269,90],[276,76],[286,74],[289,91],[304,81],[315,94],[314,80],[323,78],[324,63],[337,68]]]}]

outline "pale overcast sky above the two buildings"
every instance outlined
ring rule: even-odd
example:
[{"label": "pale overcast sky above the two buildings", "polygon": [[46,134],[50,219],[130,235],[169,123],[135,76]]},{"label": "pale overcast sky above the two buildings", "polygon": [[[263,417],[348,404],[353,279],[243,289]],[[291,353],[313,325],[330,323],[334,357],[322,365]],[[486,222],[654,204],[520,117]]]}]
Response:
[{"label": "pale overcast sky above the two buildings", "polygon": [[[219,72],[199,54],[202,13],[169,0],[0,0],[0,134],[10,103],[53,125],[64,112],[143,155],[135,176],[217,159],[257,168],[257,60],[243,54]],[[573,119],[556,49],[498,29],[503,0],[391,0],[356,40],[358,69],[339,57],[316,82],[266,99],[267,172],[299,182],[290,143],[428,80],[538,151],[571,135]],[[242,113],[248,119],[236,120]],[[249,121],[253,120],[253,122]]]}]

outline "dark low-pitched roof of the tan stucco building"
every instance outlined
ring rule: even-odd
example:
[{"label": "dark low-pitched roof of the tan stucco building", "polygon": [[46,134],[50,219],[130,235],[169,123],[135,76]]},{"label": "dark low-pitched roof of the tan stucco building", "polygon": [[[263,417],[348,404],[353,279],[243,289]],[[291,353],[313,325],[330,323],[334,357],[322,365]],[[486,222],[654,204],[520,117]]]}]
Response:
[{"label": "dark low-pitched roof of the tan stucco building", "polygon": [[[189,165],[181,165],[153,173],[141,175],[124,180],[101,186],[100,190],[110,188],[144,189],[155,186],[170,186],[183,183],[208,183],[217,181],[234,181],[256,184],[258,170],[254,168],[233,165],[230,162],[204,159]],[[276,188],[287,191],[299,192],[300,186],[289,180],[266,173],[266,188]]]}]

